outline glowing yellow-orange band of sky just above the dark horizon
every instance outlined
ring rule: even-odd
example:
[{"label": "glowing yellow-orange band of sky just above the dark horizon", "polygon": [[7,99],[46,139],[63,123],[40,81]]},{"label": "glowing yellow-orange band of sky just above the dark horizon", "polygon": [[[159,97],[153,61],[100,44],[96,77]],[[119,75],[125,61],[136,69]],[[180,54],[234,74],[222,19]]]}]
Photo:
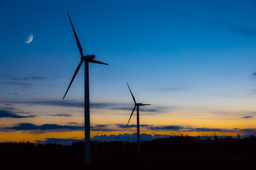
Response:
[{"label": "glowing yellow-orange band of sky just above the dark horizon", "polygon": [[[60,106],[25,106],[13,105],[12,107],[18,108],[16,110],[23,111],[18,115],[36,115],[33,118],[1,118],[1,132],[0,142],[36,142],[36,140],[46,140],[47,138],[84,138],[83,130],[6,130],[5,128],[15,127],[20,123],[31,123],[36,126],[46,124],[80,126],[84,125],[83,108],[76,107],[60,107]],[[11,110],[10,110],[11,111]],[[132,107],[131,107],[132,111]],[[120,128],[117,124],[126,125],[129,120],[131,111],[128,110],[112,110],[102,108],[91,108],[90,123],[93,126],[105,125],[106,130],[92,130],[91,137],[95,135],[119,135],[119,134],[133,134],[136,128]],[[58,114],[65,114],[66,116],[57,116]],[[166,111],[164,113],[151,113],[140,112],[140,125],[151,125],[153,127],[164,126],[179,126],[178,130],[150,130],[149,128],[141,127],[141,133],[149,135],[186,135],[189,136],[207,136],[207,135],[227,135],[235,136],[238,129],[254,129],[256,128],[256,120],[252,118],[242,118],[244,116],[252,116],[253,111],[249,109],[246,112],[233,111],[231,109],[223,109],[223,112],[213,112],[207,109],[200,108],[185,108],[180,110]],[[129,123],[129,125],[136,125],[136,112]],[[107,130],[107,128],[111,130]],[[212,131],[206,130],[196,131],[196,128],[213,129]],[[192,129],[192,130],[191,130]],[[214,130],[214,129],[223,129]],[[225,131],[226,130],[226,131]],[[233,131],[228,131],[233,130]],[[240,135],[245,135],[240,132]]]}]

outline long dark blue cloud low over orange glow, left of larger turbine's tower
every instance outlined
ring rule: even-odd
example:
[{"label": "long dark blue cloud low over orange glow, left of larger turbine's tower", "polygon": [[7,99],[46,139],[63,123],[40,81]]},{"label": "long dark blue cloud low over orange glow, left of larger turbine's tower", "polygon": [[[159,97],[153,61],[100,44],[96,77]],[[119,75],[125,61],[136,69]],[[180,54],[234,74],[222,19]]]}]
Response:
[{"label": "long dark blue cloud low over orange glow, left of larger turbine's tower", "polygon": [[6,130],[82,130],[83,126],[57,125],[57,124],[43,124],[34,125],[32,123],[20,123]]}]

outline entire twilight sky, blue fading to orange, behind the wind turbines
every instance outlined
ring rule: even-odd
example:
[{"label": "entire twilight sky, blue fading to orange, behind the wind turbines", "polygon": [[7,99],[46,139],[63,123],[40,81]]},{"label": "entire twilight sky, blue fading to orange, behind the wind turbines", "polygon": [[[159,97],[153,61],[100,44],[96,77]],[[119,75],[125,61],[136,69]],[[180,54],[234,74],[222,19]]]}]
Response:
[{"label": "entire twilight sky, blue fading to orange, behind the wind turbines", "polygon": [[[0,1],[0,142],[84,138],[90,63],[92,140],[256,135],[256,2]],[[33,40],[25,43],[30,34]]]}]

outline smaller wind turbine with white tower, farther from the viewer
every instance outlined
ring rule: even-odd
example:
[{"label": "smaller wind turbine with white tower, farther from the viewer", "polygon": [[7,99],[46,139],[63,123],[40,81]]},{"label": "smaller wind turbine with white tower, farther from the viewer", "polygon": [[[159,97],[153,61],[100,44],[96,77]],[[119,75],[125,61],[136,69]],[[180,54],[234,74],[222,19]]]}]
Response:
[{"label": "smaller wind turbine with white tower, farther from the viewer", "polygon": [[[128,88],[129,88],[129,84],[128,84],[128,83],[127,83],[127,86],[128,86]],[[129,88],[129,91],[130,91],[131,94],[132,94],[132,91],[131,91],[130,88]],[[132,110],[132,114],[134,113],[134,110],[135,110],[135,108],[137,107],[137,154],[138,154],[138,157],[139,157],[139,153],[140,153],[140,140],[139,140],[139,106],[150,106],[151,104],[137,103],[136,100],[135,100],[135,98],[134,98],[134,96],[133,96],[133,94],[132,94],[132,99],[133,99],[133,101],[134,101],[134,108],[133,108],[133,110]],[[129,120],[131,120],[132,114],[131,114]],[[128,123],[127,123],[127,127],[128,127],[128,124],[129,124],[129,121],[128,121]]]}]

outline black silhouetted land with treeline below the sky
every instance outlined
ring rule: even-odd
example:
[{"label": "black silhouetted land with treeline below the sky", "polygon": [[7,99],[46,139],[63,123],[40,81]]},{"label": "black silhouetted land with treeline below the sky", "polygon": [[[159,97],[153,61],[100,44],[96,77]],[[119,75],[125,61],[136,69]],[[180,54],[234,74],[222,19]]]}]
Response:
[{"label": "black silhouetted land with treeline below the sky", "polygon": [[255,169],[256,137],[200,140],[169,137],[142,142],[91,142],[85,166],[83,142],[73,145],[1,143],[0,169]]}]

